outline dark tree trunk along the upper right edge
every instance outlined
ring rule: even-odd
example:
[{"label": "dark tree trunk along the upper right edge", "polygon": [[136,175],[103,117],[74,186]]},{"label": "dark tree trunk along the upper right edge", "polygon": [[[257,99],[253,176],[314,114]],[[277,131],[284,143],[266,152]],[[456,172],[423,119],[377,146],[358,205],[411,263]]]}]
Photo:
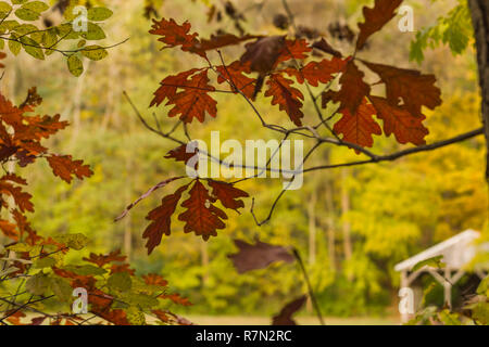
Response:
[{"label": "dark tree trunk along the upper right edge", "polygon": [[479,67],[479,85],[481,92],[482,123],[487,143],[486,180],[489,182],[489,1],[468,0],[474,25]]}]

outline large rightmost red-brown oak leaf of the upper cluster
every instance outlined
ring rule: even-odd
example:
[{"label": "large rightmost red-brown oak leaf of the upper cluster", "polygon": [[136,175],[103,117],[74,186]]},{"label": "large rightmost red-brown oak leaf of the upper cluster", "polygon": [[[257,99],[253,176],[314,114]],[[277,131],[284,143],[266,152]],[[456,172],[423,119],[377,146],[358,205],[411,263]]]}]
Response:
[{"label": "large rightmost red-brown oak leaf of the upper cluster", "polygon": [[405,110],[418,117],[423,117],[422,106],[434,110],[441,105],[441,91],[435,87],[437,79],[434,75],[422,75],[414,69],[364,63],[386,83],[387,99],[392,105],[399,105],[402,99]]}]

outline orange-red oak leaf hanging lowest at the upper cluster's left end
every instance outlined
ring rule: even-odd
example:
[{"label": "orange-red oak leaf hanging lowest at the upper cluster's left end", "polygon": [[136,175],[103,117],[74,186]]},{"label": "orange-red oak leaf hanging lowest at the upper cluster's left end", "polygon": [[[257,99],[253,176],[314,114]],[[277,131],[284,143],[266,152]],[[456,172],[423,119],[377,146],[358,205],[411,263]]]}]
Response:
[{"label": "orange-red oak leaf hanging lowest at the upper cluster's left end", "polygon": [[211,117],[217,115],[217,102],[209,95],[215,88],[209,85],[208,70],[193,75],[183,89],[167,103],[175,105],[168,113],[170,117],[180,115],[184,123],[191,123],[193,118],[203,123],[205,113]]}]

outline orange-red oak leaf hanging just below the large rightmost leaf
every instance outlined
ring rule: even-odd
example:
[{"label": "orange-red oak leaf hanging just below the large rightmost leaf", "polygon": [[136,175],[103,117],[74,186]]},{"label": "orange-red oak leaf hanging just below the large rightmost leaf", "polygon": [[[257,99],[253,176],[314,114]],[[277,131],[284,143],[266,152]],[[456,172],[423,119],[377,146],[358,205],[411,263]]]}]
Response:
[{"label": "orange-red oak leaf hanging just below the large rightmost leaf", "polygon": [[399,143],[425,144],[425,137],[429,133],[423,126],[425,116],[413,116],[404,106],[394,106],[388,100],[371,97],[372,104],[377,110],[377,117],[384,120],[384,132],[387,137],[396,136]]}]

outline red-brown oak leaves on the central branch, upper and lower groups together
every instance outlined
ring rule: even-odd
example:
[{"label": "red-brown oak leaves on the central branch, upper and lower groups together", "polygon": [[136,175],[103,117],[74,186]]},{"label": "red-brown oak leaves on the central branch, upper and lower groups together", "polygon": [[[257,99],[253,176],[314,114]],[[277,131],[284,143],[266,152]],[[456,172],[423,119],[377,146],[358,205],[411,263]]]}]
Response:
[{"label": "red-brown oak leaves on the central branch, upper and lower groups together", "polygon": [[[333,131],[346,144],[369,147],[374,143],[373,136],[380,136],[383,132],[387,137],[393,134],[402,144],[425,144],[428,129],[423,125],[426,117],[422,107],[432,110],[441,104],[435,76],[356,57],[356,52],[362,50],[368,37],[392,20],[401,3],[402,0],[378,0],[373,9],[364,8],[365,22],[359,24],[360,34],[355,52],[351,56],[343,56],[324,38],[309,42],[306,39],[289,39],[285,36],[238,37],[221,34],[201,39],[197,33],[192,33],[188,22],[180,25],[172,18],[154,21],[150,34],[158,36],[159,41],[165,43],[165,49],[179,48],[184,52],[197,54],[202,57],[205,67],[191,68],[164,78],[154,93],[151,106],[165,102],[164,105],[170,106],[168,117],[179,117],[184,124],[190,124],[195,118],[203,123],[206,114],[216,117],[217,102],[212,98],[216,87],[210,79],[210,75],[214,74],[217,85],[227,85],[231,92],[250,102],[264,89],[264,95],[272,98],[272,105],[278,105],[297,127],[302,127],[304,95],[293,86],[296,82],[313,87],[322,85],[325,86],[322,93],[323,107],[329,102],[339,104],[338,113],[341,118],[334,125]],[[208,56],[209,51],[250,40],[253,41],[246,44],[240,59],[229,64],[221,59],[220,65],[213,65]],[[314,55],[322,52],[330,55],[330,59],[310,61],[313,50]],[[304,64],[305,62],[308,63]],[[384,85],[386,97],[371,93],[373,85],[364,81],[365,74],[360,66],[378,75],[379,81],[374,85]],[[339,78],[338,90],[330,88],[336,78]],[[383,120],[383,127],[378,120]],[[171,151],[166,158],[187,164],[196,152],[187,153],[186,150],[187,145],[183,144]],[[181,179],[184,177],[168,179],[148,193]],[[186,182],[173,194],[165,196],[162,204],[148,215],[151,223],[143,233],[143,237],[148,240],[148,254],[161,243],[163,234],[171,234],[172,215],[187,190],[189,197],[181,203],[186,210],[178,219],[185,222],[186,233],[195,232],[203,240],[216,236],[217,230],[225,228],[227,215],[215,205],[217,201],[227,209],[238,210],[244,206],[240,198],[248,196],[248,193],[231,183],[199,178]],[[136,203],[129,205],[122,217]]]}]

